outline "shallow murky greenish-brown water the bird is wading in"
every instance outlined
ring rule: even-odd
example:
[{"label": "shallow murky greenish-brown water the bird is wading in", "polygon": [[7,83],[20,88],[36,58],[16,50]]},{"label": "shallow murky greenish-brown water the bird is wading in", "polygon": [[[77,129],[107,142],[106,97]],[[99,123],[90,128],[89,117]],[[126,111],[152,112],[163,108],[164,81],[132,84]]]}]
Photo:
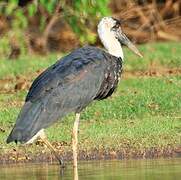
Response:
[{"label": "shallow murky greenish-brown water the bird is wading in", "polygon": [[[181,158],[80,162],[79,180],[181,180]],[[0,166],[0,180],[75,179],[72,165],[64,172],[57,164]]]}]

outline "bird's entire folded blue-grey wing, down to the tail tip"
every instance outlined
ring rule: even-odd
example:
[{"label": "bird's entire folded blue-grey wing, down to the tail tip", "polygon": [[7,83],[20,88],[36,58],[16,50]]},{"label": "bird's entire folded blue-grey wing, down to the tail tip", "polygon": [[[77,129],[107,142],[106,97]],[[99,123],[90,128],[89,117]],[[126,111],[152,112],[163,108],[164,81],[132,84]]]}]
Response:
[{"label": "bird's entire folded blue-grey wing, down to the tail tip", "polygon": [[104,79],[107,64],[103,53],[84,47],[44,71],[33,82],[7,142],[26,142],[58,118],[86,107]]}]

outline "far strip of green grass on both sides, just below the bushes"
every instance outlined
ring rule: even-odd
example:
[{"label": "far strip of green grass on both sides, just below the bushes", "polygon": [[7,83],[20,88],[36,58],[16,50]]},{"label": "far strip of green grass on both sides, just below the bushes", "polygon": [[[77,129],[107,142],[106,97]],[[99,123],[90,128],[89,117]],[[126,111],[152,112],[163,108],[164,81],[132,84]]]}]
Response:
[{"label": "far strip of green grass on both sides, just below the bushes", "polygon": [[[153,43],[139,46],[144,58],[139,58],[129,49],[124,48],[124,67],[127,70],[147,70],[155,65],[173,68],[181,66],[181,43]],[[23,56],[16,60],[0,59],[0,79],[27,75],[39,69],[44,69],[59,59],[62,54],[50,54],[47,57]]]}]

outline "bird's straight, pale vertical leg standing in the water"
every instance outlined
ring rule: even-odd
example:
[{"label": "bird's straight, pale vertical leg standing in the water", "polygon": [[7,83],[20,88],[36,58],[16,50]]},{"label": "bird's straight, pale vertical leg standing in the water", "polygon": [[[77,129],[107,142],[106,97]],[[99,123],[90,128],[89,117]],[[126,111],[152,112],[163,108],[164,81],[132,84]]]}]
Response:
[{"label": "bird's straight, pale vertical leg standing in the water", "polygon": [[79,127],[80,113],[76,113],[74,127],[72,131],[72,148],[73,148],[73,166],[77,168],[77,144],[78,144],[78,127]]}]

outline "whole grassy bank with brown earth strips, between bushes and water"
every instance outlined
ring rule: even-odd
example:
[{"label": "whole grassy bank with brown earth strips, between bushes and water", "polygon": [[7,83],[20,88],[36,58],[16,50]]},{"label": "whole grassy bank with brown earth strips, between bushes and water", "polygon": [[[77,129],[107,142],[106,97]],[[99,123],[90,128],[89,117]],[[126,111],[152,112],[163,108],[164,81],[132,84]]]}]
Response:
[{"label": "whole grassy bank with brown earth strips, between bushes and water", "polygon": [[[157,43],[140,49],[144,59],[126,54],[125,73],[113,96],[92,103],[82,112],[79,159],[180,156],[181,45]],[[0,164],[55,160],[41,142],[16,146],[5,141],[32,80],[56,56],[0,61]],[[70,114],[46,130],[48,139],[65,160],[72,158],[74,118]]]}]

